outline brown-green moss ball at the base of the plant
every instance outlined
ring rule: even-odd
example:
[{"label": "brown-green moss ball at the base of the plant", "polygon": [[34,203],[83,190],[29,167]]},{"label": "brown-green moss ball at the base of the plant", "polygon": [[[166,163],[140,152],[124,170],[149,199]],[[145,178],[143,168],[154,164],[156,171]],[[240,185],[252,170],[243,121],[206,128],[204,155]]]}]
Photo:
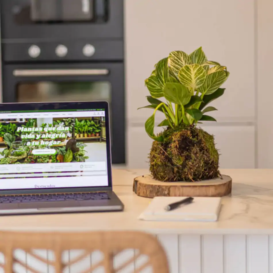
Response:
[{"label": "brown-green moss ball at the base of the plant", "polygon": [[194,126],[167,128],[153,141],[150,172],[160,181],[200,181],[218,178],[219,153],[214,136]]}]

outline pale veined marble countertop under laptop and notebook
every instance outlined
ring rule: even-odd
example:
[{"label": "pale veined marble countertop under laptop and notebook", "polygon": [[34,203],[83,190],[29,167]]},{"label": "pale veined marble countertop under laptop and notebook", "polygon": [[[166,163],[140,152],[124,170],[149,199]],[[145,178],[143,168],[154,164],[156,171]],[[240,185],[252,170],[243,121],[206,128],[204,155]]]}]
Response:
[{"label": "pale veined marble countertop under laptop and notebook", "polygon": [[1,216],[1,230],[143,230],[156,234],[273,234],[273,170],[221,170],[232,177],[232,196],[222,198],[217,222],[150,222],[137,217],[151,199],[132,191],[147,170],[113,170],[114,191],[124,212]]}]

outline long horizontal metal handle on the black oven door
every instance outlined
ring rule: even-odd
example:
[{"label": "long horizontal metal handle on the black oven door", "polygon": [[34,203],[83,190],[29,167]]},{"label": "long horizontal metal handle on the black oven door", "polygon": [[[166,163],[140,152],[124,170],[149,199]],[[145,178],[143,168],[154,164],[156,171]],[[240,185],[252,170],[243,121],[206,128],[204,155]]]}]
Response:
[{"label": "long horizontal metal handle on the black oven door", "polygon": [[16,77],[108,75],[108,69],[15,69]]}]

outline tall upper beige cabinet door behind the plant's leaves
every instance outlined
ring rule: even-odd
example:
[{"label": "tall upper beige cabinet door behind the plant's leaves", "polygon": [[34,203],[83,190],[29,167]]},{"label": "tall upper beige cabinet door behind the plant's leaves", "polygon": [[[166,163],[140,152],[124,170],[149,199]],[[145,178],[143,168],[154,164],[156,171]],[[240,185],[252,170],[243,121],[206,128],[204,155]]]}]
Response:
[{"label": "tall upper beige cabinet door behind the plant's leaves", "polygon": [[230,71],[225,95],[213,103],[219,109],[214,116],[219,122],[253,121],[254,6],[254,0],[125,1],[128,119],[147,118],[137,108],[148,104],[144,80],[159,59],[173,50],[191,53],[202,46],[210,60]]}]

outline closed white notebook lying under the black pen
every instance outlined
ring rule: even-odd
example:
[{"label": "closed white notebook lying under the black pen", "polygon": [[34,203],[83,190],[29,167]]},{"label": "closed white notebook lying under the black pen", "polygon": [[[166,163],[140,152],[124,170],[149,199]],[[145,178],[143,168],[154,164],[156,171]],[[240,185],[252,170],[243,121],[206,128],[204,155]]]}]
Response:
[{"label": "closed white notebook lying under the black pen", "polygon": [[165,207],[186,197],[154,197],[139,216],[147,221],[217,221],[221,197],[194,197],[192,203],[165,211]]}]

